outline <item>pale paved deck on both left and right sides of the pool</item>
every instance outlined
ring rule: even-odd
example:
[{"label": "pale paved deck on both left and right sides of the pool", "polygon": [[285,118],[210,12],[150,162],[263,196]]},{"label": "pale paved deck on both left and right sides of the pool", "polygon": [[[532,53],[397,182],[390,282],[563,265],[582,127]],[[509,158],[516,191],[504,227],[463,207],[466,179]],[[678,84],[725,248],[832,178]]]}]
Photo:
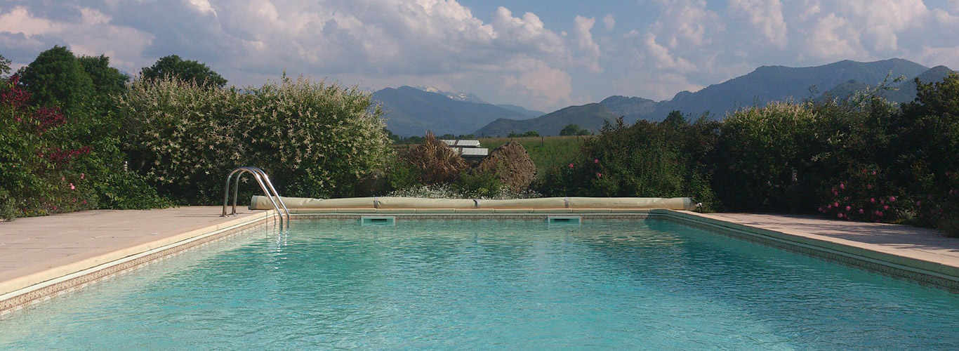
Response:
[{"label": "pale paved deck on both left and right sides of the pool", "polygon": [[[220,217],[219,206],[190,206],[145,211],[82,211],[0,222],[0,314],[49,298],[51,294],[72,291],[117,271],[152,262],[163,254],[156,253],[155,257],[149,254],[164,247],[183,246],[182,243],[200,236],[262,224],[271,212],[238,210],[239,216],[227,218]],[[908,267],[928,269],[959,281],[959,239],[943,237],[931,229],[789,215],[697,214],[669,210],[636,213],[668,215],[800,245],[812,243],[894,264],[905,260],[909,262],[905,264]],[[56,283],[71,274],[96,272],[98,267],[134,258],[140,261],[118,266],[114,269],[117,271],[100,275],[86,273],[93,276],[82,285],[47,291],[35,288]],[[32,289],[36,290],[31,292],[34,295],[26,296],[25,291]]]}]

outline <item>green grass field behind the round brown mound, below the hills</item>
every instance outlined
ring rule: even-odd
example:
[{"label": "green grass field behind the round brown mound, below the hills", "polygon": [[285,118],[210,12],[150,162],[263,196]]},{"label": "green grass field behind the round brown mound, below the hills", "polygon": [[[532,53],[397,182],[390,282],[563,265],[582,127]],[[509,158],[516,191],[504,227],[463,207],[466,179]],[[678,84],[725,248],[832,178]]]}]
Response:
[{"label": "green grass field behind the round brown mound, below the hills", "polygon": [[585,138],[592,136],[529,136],[521,138],[479,138],[479,145],[489,148],[490,151],[508,143],[516,141],[526,148],[529,158],[536,164],[537,174],[542,175],[546,170],[563,166],[579,152]]}]

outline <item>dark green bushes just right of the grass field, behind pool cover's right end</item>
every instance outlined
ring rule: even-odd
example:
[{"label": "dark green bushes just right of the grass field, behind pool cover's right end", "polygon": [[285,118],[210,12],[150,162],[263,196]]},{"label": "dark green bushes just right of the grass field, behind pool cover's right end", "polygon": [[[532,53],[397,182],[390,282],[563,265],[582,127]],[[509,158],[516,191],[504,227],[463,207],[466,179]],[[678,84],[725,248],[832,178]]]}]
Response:
[{"label": "dark green bushes just right of the grass field, behind pool cover's right end", "polygon": [[705,163],[717,123],[622,120],[607,124],[568,165],[548,169],[539,188],[551,196],[692,197],[714,200]]}]

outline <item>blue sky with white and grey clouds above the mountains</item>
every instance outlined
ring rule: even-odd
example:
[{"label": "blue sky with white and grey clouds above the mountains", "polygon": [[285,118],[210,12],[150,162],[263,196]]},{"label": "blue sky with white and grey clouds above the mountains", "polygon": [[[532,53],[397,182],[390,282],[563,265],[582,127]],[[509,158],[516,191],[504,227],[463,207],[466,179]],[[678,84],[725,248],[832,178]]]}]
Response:
[{"label": "blue sky with white and grey clouds above the mountains", "polygon": [[549,112],[667,100],[763,65],[959,69],[959,0],[0,0],[14,69],[54,45],[130,74],[178,55],[238,86],[286,72]]}]

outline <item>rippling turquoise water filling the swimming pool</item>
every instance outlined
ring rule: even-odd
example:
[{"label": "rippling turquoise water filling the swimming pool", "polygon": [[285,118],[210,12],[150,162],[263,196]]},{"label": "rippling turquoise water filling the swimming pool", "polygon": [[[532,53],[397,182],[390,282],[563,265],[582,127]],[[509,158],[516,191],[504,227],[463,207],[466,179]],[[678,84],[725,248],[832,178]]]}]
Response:
[{"label": "rippling turquoise water filling the swimming pool", "polygon": [[4,350],[956,350],[959,297],[671,222],[293,222],[0,319]]}]

